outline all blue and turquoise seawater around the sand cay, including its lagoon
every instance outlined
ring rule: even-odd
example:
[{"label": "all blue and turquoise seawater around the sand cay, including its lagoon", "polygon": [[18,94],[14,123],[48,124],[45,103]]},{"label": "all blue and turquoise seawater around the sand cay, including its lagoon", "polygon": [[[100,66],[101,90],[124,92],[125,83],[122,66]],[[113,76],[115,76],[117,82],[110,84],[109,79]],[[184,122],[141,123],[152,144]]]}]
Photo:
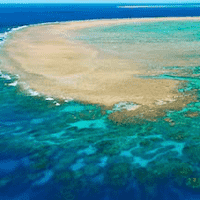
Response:
[{"label": "all blue and turquoise seawater around the sand cay, including its lagoon", "polygon": [[[0,4],[0,46],[9,32],[31,24],[200,16],[200,4],[120,6],[126,5]],[[196,102],[168,111],[170,120],[116,126],[107,116],[131,103],[104,112],[99,105],[43,96],[26,83],[20,88],[20,77],[0,63],[0,200],[200,199],[200,65],[192,62],[200,58],[200,24],[154,24],[85,29],[76,39],[125,56],[137,54],[123,46],[127,41],[192,50],[184,53],[192,65],[179,67],[184,76],[162,63],[171,72],[153,77],[186,80],[180,92],[197,94]]]}]

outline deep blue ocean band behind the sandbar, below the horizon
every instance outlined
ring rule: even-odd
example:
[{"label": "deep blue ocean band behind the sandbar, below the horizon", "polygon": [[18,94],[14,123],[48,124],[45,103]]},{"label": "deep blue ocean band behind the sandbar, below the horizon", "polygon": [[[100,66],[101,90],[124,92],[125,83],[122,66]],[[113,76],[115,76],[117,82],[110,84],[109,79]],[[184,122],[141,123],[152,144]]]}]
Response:
[{"label": "deep blue ocean band behind the sandbar, below the horizon", "polygon": [[200,12],[200,7],[198,7],[200,4],[169,5],[169,7],[164,8],[118,8],[118,6],[124,5],[125,4],[0,4],[0,28],[4,29],[43,22],[84,19],[199,16]]}]

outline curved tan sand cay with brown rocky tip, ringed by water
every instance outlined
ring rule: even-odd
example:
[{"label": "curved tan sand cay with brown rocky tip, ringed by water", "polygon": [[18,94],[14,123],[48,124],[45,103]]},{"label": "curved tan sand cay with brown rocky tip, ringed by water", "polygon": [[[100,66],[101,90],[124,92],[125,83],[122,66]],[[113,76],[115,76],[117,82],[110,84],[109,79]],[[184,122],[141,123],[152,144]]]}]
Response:
[{"label": "curved tan sand cay with brown rocky tip, ringed by water", "polygon": [[[30,88],[45,95],[70,97],[107,109],[120,102],[138,105],[112,113],[109,119],[117,124],[135,123],[141,118],[152,120],[164,116],[166,110],[182,109],[195,101],[195,95],[178,92],[183,81],[138,76],[163,73],[162,69],[147,69],[137,58],[123,59],[106,54],[94,46],[72,40],[71,36],[89,27],[169,20],[200,18],[94,20],[31,26],[10,33],[1,49],[1,68],[18,73]],[[162,62],[159,57],[157,59]]]}]

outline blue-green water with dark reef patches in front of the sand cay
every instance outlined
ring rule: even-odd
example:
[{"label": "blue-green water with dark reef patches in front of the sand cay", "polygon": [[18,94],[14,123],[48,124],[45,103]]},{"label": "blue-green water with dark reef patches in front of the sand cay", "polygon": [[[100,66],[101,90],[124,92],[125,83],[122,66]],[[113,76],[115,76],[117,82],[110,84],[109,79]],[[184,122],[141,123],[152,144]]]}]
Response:
[{"label": "blue-green water with dark reef patches in front of the sand cay", "polygon": [[[199,177],[200,118],[185,115],[188,110],[199,112],[198,102],[169,111],[170,123],[159,119],[116,127],[98,106],[27,95],[18,86],[8,85],[16,81],[8,75],[11,80],[0,79],[1,194],[16,187],[22,193],[39,192],[48,186],[48,192],[55,187],[61,198],[62,192],[76,196],[75,188],[82,195],[82,188],[93,195],[95,191],[100,198],[105,186],[110,192],[131,187],[135,194],[137,187],[142,190],[137,184],[150,189],[153,181],[153,189],[159,188],[163,176],[174,182],[173,187],[179,187],[180,181],[183,188],[190,177]],[[185,79],[199,87],[197,78]],[[136,199],[141,199],[142,194],[138,195]]]}]

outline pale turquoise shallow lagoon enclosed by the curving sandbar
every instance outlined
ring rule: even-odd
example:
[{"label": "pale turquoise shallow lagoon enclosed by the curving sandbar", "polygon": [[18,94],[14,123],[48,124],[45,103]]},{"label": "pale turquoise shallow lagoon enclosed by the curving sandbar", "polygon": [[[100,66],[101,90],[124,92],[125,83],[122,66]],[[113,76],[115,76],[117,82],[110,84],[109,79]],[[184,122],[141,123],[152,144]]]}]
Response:
[{"label": "pale turquoise shallow lagoon enclosed by the curving sandbar", "polygon": [[127,23],[79,31],[76,39],[140,67],[198,66],[200,25],[198,21]]}]

